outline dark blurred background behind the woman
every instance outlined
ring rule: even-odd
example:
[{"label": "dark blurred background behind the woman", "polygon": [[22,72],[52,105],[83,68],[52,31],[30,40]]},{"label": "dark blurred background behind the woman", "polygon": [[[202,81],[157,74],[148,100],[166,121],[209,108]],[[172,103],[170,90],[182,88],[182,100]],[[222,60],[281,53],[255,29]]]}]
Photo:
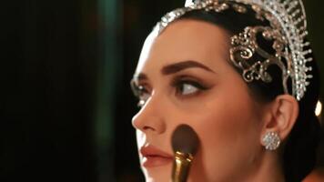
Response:
[{"label": "dark blurred background behind the woman", "polygon": [[[129,80],[153,25],[181,5],[184,0],[2,2],[0,181],[144,181]],[[324,1],[305,5],[324,72]]]}]

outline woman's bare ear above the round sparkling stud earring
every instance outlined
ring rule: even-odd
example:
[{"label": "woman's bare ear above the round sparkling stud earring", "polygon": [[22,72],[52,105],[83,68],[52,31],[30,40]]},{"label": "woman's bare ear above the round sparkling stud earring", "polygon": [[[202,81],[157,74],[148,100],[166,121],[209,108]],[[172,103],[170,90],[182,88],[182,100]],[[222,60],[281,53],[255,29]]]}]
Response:
[{"label": "woman's bare ear above the round sparkling stud earring", "polygon": [[268,132],[277,132],[281,140],[285,140],[299,116],[299,103],[295,97],[280,95],[267,109],[261,138]]}]

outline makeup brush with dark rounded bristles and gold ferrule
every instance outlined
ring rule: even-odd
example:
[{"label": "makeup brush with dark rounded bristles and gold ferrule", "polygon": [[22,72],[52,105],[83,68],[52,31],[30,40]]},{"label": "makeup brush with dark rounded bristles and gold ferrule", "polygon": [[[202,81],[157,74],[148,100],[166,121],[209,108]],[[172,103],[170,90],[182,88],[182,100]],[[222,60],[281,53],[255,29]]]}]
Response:
[{"label": "makeup brush with dark rounded bristles and gold ferrule", "polygon": [[186,182],[192,160],[199,146],[197,133],[190,126],[177,126],[172,134],[171,143],[175,153],[172,182]]}]

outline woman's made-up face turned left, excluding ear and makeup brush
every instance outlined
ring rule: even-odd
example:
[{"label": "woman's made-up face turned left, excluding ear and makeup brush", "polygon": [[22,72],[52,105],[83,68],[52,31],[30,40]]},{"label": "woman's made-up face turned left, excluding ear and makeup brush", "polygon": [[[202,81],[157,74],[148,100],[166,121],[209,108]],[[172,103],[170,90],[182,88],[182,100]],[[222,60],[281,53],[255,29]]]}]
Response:
[{"label": "woman's made-up face turned left, excluding ear and makeup brush", "polygon": [[170,180],[171,135],[180,124],[200,140],[189,181],[242,181],[258,170],[262,108],[228,50],[222,28],[197,20],[147,37],[134,76],[141,109],[133,117],[147,181]]}]

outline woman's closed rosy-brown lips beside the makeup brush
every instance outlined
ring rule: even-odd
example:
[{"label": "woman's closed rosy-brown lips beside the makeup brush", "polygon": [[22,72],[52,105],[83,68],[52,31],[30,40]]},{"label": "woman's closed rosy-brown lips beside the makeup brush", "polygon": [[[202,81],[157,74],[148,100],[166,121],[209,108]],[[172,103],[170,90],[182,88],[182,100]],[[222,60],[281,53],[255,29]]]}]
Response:
[{"label": "woman's closed rosy-brown lips beside the makeup brush", "polygon": [[165,166],[173,161],[173,156],[167,154],[157,147],[148,145],[147,147],[141,147],[140,153],[143,156],[143,167],[161,167]]}]

